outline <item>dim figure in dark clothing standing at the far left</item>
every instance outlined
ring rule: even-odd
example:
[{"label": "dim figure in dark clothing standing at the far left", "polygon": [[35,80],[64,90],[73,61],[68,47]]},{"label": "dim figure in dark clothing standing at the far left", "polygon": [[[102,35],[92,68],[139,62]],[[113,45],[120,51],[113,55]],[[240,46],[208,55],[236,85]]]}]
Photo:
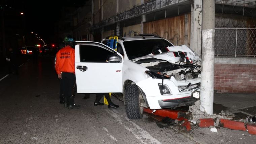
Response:
[{"label": "dim figure in dark clothing standing at the far left", "polygon": [[18,74],[17,66],[17,52],[12,48],[9,48],[6,61],[8,63],[8,69],[10,74]]}]

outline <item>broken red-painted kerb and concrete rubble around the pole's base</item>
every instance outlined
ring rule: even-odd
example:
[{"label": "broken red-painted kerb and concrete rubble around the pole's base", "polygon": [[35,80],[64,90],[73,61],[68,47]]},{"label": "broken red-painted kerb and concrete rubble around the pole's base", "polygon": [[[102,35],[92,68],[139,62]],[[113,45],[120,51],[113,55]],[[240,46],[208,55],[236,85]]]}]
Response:
[{"label": "broken red-painted kerb and concrete rubble around the pole's base", "polygon": [[[152,110],[144,109],[145,112],[151,114]],[[195,105],[189,107],[189,114],[184,110],[173,110],[173,109],[161,109],[156,110],[153,113],[154,116],[159,116],[160,123],[157,123],[158,127],[171,127],[175,128],[175,126],[179,126],[185,128],[187,131],[190,131],[191,126],[197,127],[209,127],[213,132],[216,132],[215,127],[223,127],[233,130],[242,130],[248,131],[249,134],[256,135],[256,125],[255,122],[251,122],[253,120],[252,117],[248,117],[246,119],[236,119],[233,120],[233,114],[229,110],[222,110],[220,115],[207,115],[204,112],[200,111],[200,102],[197,101]],[[188,119],[187,119],[188,118]],[[248,122],[250,121],[250,122]],[[217,131],[218,132],[218,131]]]}]

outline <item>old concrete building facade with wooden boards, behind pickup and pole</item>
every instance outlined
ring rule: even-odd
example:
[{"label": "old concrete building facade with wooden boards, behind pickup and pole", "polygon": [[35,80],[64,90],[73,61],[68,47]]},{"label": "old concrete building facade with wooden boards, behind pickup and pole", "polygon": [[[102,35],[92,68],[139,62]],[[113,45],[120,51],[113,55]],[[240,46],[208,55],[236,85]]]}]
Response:
[{"label": "old concrete building facade with wooden boards, behind pickup and pole", "polygon": [[[74,28],[75,35],[86,29],[86,40],[149,33],[202,53],[202,0],[92,0],[89,7],[76,15],[91,21]],[[254,0],[215,0],[216,92],[256,93],[254,7]]]}]

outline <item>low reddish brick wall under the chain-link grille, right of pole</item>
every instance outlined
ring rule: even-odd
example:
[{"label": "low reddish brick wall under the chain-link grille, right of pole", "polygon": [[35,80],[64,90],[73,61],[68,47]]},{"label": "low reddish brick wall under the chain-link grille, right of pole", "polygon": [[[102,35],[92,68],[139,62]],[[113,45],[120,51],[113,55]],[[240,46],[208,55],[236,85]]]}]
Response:
[{"label": "low reddish brick wall under the chain-link grille, right of pole", "polygon": [[214,66],[214,90],[218,93],[256,93],[256,64]]}]

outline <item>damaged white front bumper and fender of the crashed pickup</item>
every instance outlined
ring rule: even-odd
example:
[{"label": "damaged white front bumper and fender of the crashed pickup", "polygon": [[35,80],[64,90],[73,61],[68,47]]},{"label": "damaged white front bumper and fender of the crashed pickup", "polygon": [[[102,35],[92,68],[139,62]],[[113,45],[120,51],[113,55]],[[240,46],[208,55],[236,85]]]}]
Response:
[{"label": "damaged white front bumper and fender of the crashed pickup", "polygon": [[[162,79],[147,78],[138,85],[146,95],[150,109],[173,108],[192,105],[200,99],[200,78],[188,80],[190,86],[186,87],[184,81],[176,81],[175,78],[164,79],[163,84],[169,88],[170,94],[164,95],[160,86]],[[188,82],[186,82],[188,84]]]}]

